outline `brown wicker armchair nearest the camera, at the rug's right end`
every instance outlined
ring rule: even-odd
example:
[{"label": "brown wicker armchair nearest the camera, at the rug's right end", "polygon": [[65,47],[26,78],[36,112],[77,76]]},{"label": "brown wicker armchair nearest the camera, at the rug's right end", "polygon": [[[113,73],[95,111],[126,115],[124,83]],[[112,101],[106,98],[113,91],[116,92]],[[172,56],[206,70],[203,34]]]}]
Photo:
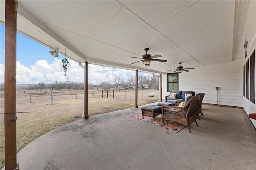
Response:
[{"label": "brown wicker armchair nearest the camera, at the rug's right end", "polygon": [[[189,133],[191,133],[189,126],[193,122],[196,122],[195,112],[197,110],[199,100],[200,96],[193,96],[183,107],[162,105],[162,114],[174,114],[175,121],[188,126]],[[196,125],[198,126],[197,122]]]}]

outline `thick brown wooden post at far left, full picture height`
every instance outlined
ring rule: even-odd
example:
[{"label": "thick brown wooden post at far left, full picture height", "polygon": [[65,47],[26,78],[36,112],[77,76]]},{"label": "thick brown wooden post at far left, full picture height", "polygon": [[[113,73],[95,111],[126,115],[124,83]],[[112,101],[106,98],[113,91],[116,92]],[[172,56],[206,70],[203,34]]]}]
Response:
[{"label": "thick brown wooden post at far left, full picture height", "polygon": [[4,149],[5,170],[18,170],[16,146],[17,2],[5,1]]}]

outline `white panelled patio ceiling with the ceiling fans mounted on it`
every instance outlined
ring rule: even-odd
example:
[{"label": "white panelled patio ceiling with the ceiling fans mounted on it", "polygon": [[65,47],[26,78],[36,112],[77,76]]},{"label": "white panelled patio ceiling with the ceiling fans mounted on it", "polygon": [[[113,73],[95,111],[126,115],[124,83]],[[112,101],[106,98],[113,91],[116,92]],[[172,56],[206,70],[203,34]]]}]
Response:
[{"label": "white panelled patio ceiling with the ceiling fans mounted on it", "polygon": [[[245,36],[250,43],[256,34],[255,9],[256,1],[19,0],[17,30],[63,54],[66,48],[75,61],[165,73],[178,62],[196,68],[244,58]],[[145,47],[167,62],[129,65]]]}]

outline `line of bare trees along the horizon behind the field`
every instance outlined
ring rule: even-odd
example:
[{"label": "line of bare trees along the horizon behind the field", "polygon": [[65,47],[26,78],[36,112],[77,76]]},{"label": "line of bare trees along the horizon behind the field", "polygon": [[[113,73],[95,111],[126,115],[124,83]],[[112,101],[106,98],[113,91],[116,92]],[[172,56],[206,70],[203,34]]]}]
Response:
[{"label": "line of bare trees along the horizon behind the field", "polygon": [[[88,83],[88,90],[110,90],[110,89],[130,89],[135,87],[135,76],[131,76],[127,81],[123,80],[120,75],[114,74],[113,78],[108,82],[101,82],[100,84]],[[157,76],[145,76],[138,74],[138,87],[144,88],[148,85],[149,88],[158,88],[159,78]],[[54,90],[83,90],[84,83],[82,82],[72,82],[70,80],[66,82],[55,81],[52,84],[45,84],[40,82],[38,84],[26,84],[17,85],[17,90],[44,90],[44,89],[54,89]],[[0,84],[0,91],[4,91],[4,84]]]}]

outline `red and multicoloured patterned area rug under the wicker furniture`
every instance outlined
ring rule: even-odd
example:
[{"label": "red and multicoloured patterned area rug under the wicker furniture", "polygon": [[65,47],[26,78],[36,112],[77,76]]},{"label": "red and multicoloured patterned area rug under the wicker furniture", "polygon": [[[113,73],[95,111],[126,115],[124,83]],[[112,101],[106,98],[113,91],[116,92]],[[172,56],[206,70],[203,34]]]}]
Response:
[{"label": "red and multicoloured patterned area rug under the wicker furniture", "polygon": [[[144,116],[144,119],[142,119],[142,113],[139,113],[136,115],[131,115],[129,117],[132,119],[136,119],[136,120],[145,122],[145,123],[149,123],[151,125],[156,125],[158,127],[162,127],[162,116],[161,115],[157,115],[155,117],[155,121],[153,120],[152,117],[149,117],[149,116]],[[168,129],[169,131],[173,131],[173,132],[179,132],[181,129],[183,129],[186,126],[176,122],[175,127],[176,128],[174,128],[174,121],[168,121],[168,127],[167,127],[167,121],[165,120],[162,128]]]}]

